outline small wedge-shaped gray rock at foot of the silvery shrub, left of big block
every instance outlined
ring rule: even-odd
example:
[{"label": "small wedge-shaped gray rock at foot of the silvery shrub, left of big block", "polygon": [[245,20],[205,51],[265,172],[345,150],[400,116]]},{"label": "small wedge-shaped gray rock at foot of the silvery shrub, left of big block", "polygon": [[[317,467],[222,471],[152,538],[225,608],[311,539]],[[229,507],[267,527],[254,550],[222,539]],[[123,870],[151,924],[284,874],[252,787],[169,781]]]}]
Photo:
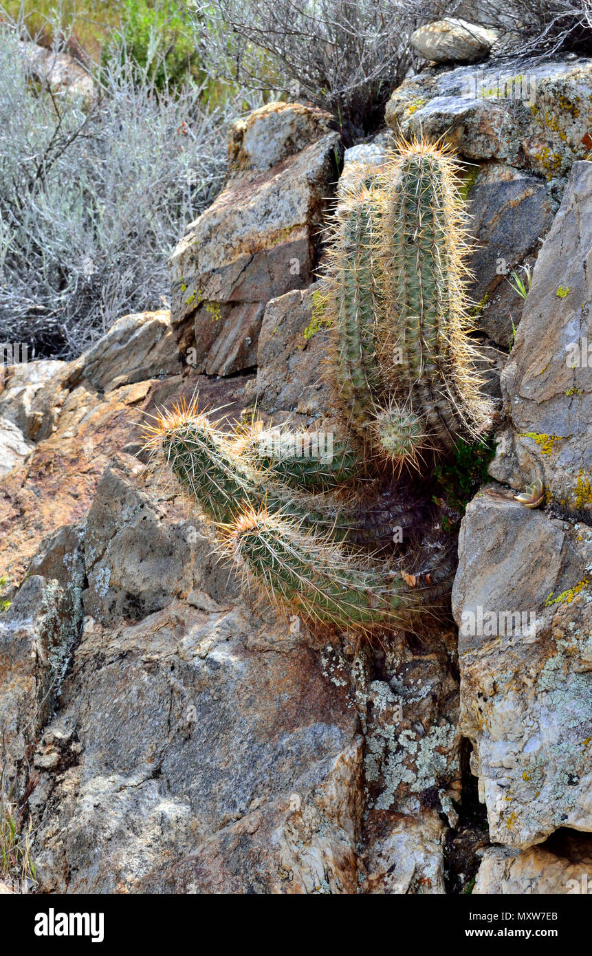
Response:
[{"label": "small wedge-shaped gray rock at foot of the silvery shrub, left of big block", "polygon": [[180,373],[182,356],[170,313],[123,315],[82,357],[82,376],[100,392]]}]

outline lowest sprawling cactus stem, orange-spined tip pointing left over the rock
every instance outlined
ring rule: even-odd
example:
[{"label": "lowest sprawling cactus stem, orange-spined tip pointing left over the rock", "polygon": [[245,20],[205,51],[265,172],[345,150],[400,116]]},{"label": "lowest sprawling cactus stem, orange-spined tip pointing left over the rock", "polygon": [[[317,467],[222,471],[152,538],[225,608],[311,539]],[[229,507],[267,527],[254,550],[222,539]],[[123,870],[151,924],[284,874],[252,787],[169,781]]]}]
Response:
[{"label": "lowest sprawling cactus stem, orange-spined tip pointing left over the rock", "polygon": [[366,633],[409,627],[441,593],[437,586],[411,587],[385,566],[363,563],[343,546],[267,510],[240,515],[226,529],[223,548],[247,580],[280,606],[322,624]]}]

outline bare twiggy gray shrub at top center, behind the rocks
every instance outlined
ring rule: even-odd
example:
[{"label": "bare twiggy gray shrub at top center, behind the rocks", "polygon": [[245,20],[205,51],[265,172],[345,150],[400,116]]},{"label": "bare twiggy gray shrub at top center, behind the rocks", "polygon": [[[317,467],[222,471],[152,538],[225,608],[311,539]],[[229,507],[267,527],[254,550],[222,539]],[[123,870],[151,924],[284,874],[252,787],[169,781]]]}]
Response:
[{"label": "bare twiggy gray shrub at top center, behind the rocks", "polygon": [[334,112],[350,138],[382,120],[409,65],[414,20],[404,0],[195,0],[192,6],[200,53],[214,76],[308,99]]}]

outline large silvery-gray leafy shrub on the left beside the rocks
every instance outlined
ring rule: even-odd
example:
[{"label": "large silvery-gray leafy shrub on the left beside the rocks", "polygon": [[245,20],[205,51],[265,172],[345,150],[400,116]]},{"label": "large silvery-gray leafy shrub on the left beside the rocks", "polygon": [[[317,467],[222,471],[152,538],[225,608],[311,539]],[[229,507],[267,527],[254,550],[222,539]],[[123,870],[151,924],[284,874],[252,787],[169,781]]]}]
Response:
[{"label": "large silvery-gray leafy shrub on the left beside the rocks", "polygon": [[33,83],[22,29],[0,28],[0,341],[71,357],[119,315],[162,307],[167,256],[223,183],[229,121],[257,99],[208,109],[194,83],[167,96],[124,44],[92,102],[56,93]]}]

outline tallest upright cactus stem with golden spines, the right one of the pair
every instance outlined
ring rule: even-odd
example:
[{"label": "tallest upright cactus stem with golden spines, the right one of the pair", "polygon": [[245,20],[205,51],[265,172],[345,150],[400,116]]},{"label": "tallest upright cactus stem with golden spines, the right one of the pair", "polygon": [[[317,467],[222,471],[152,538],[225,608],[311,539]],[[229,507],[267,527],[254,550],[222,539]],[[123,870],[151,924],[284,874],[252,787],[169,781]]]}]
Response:
[{"label": "tallest upright cactus stem with golden spines, the right one of the pair", "polygon": [[430,441],[449,451],[478,438],[491,408],[480,392],[467,309],[467,230],[449,151],[400,143],[384,170],[384,296],[377,335],[383,376],[413,403]]}]

